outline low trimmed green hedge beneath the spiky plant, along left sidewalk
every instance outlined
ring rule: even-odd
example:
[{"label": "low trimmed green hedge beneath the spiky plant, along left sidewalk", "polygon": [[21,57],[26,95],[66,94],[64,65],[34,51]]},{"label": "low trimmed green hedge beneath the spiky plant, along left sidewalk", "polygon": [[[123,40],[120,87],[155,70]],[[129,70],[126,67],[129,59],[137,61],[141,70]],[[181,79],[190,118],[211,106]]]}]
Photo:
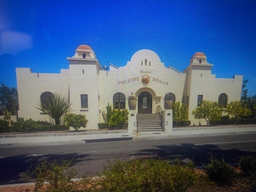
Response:
[{"label": "low trimmed green hedge beneath the spiky plant, along left sidewalk", "polygon": [[8,127],[8,126],[0,126],[1,133],[7,132],[35,132],[35,131],[67,131],[69,130],[69,126],[66,125],[38,125],[36,128],[31,128],[28,130],[23,127]]}]

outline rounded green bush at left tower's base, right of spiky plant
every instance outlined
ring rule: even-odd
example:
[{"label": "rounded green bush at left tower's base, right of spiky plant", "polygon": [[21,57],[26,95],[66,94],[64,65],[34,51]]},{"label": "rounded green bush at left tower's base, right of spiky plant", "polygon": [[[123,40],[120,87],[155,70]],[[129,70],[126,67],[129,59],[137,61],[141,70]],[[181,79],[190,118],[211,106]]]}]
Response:
[{"label": "rounded green bush at left tower's base, right of spiky plant", "polygon": [[86,128],[88,120],[84,115],[80,114],[67,114],[66,115],[66,124],[70,127],[73,127],[76,131],[81,127]]}]

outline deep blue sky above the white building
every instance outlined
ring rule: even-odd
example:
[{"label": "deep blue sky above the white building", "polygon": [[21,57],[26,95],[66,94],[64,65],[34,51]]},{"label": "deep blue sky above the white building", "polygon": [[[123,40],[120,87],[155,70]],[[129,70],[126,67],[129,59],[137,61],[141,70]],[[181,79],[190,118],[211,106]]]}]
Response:
[{"label": "deep blue sky above the white building", "polygon": [[183,71],[204,52],[217,78],[242,74],[254,95],[255,8],[255,0],[2,0],[0,82],[16,87],[16,67],[59,73],[88,44],[102,66],[150,49]]}]

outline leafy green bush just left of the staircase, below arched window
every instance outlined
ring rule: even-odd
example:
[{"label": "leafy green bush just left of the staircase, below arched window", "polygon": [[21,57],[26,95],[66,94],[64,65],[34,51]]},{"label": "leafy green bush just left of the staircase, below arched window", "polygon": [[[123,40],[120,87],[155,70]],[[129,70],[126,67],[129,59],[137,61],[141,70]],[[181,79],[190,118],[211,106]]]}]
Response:
[{"label": "leafy green bush just left of the staircase, below arched window", "polygon": [[123,128],[128,122],[128,111],[127,110],[114,110],[114,113],[110,117],[108,122],[109,128]]}]

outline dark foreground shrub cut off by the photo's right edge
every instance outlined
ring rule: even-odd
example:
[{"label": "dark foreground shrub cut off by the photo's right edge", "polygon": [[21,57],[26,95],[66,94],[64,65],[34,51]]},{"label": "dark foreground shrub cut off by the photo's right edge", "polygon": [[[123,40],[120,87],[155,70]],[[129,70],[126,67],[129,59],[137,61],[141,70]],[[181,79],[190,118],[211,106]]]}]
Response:
[{"label": "dark foreground shrub cut off by the photo's right edge", "polygon": [[256,177],[256,156],[248,155],[240,157],[240,167],[246,175]]}]

